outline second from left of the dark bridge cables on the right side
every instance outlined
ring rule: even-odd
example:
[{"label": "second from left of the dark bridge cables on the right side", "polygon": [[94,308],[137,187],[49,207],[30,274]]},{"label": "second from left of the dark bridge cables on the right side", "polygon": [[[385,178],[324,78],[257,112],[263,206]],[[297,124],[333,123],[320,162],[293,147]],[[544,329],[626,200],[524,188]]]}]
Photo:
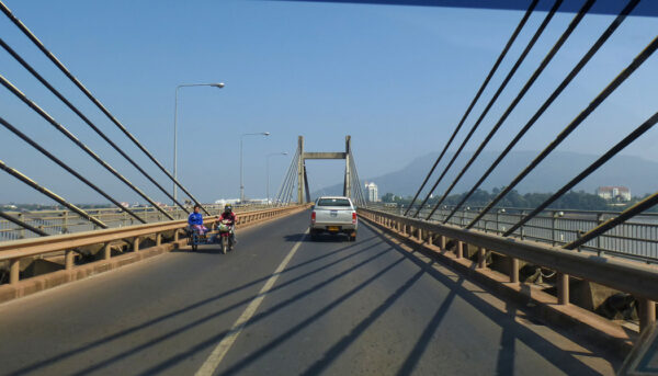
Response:
[{"label": "second from left of the dark bridge cables on the right side", "polygon": [[498,99],[498,96],[500,95],[500,93],[502,93],[502,91],[504,90],[504,88],[507,87],[507,84],[510,82],[510,80],[512,79],[512,77],[517,72],[517,69],[519,69],[519,67],[521,66],[521,64],[523,62],[523,60],[525,60],[525,57],[527,56],[527,54],[530,53],[530,50],[532,49],[532,47],[535,45],[535,43],[537,42],[537,39],[542,35],[542,33],[544,32],[544,30],[546,29],[546,26],[548,25],[548,23],[551,22],[551,20],[555,15],[555,12],[557,12],[557,9],[561,4],[561,2],[563,2],[563,0],[556,0],[555,1],[555,3],[553,4],[553,8],[551,9],[551,12],[548,12],[548,14],[546,14],[546,16],[544,18],[544,21],[542,22],[542,24],[540,25],[540,27],[537,27],[537,31],[533,35],[532,39],[530,39],[530,42],[527,43],[527,45],[523,49],[523,53],[521,53],[521,56],[519,56],[519,58],[517,59],[517,62],[514,62],[514,66],[512,67],[512,69],[510,69],[508,76],[504,78],[504,80],[502,80],[502,82],[500,83],[500,87],[498,88],[498,90],[496,91],[496,93],[494,94],[494,96],[491,98],[491,100],[489,101],[489,103],[487,104],[487,106],[485,107],[485,110],[483,111],[483,113],[480,114],[480,116],[477,119],[477,122],[475,122],[475,124],[473,125],[473,127],[468,132],[468,135],[466,135],[466,138],[464,138],[464,141],[462,141],[462,145],[460,145],[460,148],[457,149],[457,151],[455,152],[455,155],[453,156],[453,158],[450,160],[450,162],[447,163],[447,166],[443,169],[443,172],[441,173],[441,175],[439,176],[439,179],[436,179],[436,182],[434,182],[434,185],[432,186],[432,189],[430,190],[430,192],[428,192],[426,198],[422,201],[422,203],[418,207],[418,210],[416,212],[416,214],[413,215],[413,217],[418,217],[418,214],[420,213],[420,210],[422,209],[422,207],[424,206],[424,204],[428,202],[428,200],[430,200],[430,196],[432,195],[432,193],[434,192],[434,190],[436,189],[436,186],[439,185],[439,183],[441,183],[441,181],[443,180],[443,176],[445,176],[445,174],[447,173],[447,171],[450,170],[450,168],[452,167],[452,164],[455,162],[455,160],[457,159],[457,157],[460,157],[460,153],[462,152],[462,150],[464,149],[464,147],[466,146],[466,144],[468,143],[468,140],[470,139],[470,137],[473,136],[473,134],[475,133],[475,130],[478,128],[478,126],[480,125],[481,121],[489,113],[489,110],[491,109],[491,106],[494,105],[494,103],[496,102],[496,100]]}]

